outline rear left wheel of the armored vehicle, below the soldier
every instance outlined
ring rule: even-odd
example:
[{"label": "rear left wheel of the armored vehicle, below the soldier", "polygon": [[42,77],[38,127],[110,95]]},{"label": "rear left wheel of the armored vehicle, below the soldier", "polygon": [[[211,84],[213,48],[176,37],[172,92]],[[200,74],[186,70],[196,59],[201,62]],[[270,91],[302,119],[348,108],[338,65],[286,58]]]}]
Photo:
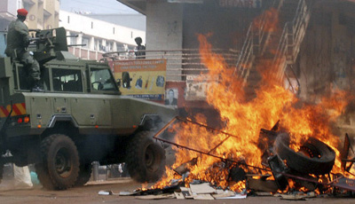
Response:
[{"label": "rear left wheel of the armored vehicle, below the soldier", "polygon": [[36,164],[36,173],[43,187],[49,190],[72,187],[79,173],[79,156],[73,140],[61,134],[45,137],[41,152],[43,162]]}]

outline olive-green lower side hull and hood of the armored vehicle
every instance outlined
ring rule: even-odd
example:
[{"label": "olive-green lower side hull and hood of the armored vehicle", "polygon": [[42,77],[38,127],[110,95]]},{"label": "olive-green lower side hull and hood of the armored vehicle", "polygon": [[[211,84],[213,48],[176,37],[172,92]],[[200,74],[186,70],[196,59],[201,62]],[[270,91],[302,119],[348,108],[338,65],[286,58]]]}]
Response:
[{"label": "olive-green lower side hull and hood of the armored vehicle", "polygon": [[8,137],[41,134],[49,128],[54,115],[72,116],[81,134],[130,135],[146,114],[160,115],[162,121],[169,121],[176,114],[163,105],[117,95],[23,92],[13,97],[18,103],[26,103],[31,120],[30,128],[23,126],[26,130],[10,125]]}]

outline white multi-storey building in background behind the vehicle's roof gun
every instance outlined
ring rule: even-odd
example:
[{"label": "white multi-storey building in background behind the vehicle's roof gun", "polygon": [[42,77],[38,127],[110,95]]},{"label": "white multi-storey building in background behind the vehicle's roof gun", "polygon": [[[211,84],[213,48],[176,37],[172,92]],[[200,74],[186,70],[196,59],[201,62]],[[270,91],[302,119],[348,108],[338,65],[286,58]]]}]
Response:
[{"label": "white multi-storey building in background behind the vehicle's roof gun", "polygon": [[67,35],[78,35],[68,38],[69,45],[82,45],[69,48],[78,58],[99,60],[105,52],[132,51],[136,46],[134,38],[138,36],[146,42],[144,30],[123,27],[74,12],[60,11],[59,19],[59,26],[66,27]]}]

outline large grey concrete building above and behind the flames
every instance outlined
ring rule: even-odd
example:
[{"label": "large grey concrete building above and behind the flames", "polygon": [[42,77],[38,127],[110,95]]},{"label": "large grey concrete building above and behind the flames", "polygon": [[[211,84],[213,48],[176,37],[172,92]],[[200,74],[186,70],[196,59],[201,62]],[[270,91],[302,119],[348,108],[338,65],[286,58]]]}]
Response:
[{"label": "large grey concrete building above and behind the flames", "polygon": [[[288,76],[298,80],[300,98],[317,102],[321,96],[331,94],[334,87],[355,93],[353,0],[117,1],[146,15],[147,50],[196,49],[199,46],[196,34],[210,33],[209,43],[213,48],[241,51],[239,59],[252,56],[248,58],[252,66],[245,77],[256,84],[260,76],[254,74],[255,64],[261,58],[274,57],[270,52],[273,41],[277,42],[275,49],[278,45],[284,47],[284,55],[279,57],[284,59],[282,66]],[[263,35],[267,36],[263,39],[256,32],[248,34],[251,22],[272,6],[280,17],[278,29]],[[257,27],[258,31],[261,26]],[[288,37],[281,35],[283,30],[288,32]],[[279,44],[281,42],[283,44]],[[237,63],[239,65],[242,63]],[[183,76],[189,74],[186,68],[181,66],[180,79],[170,78],[170,81],[181,82],[168,82],[168,88],[172,84],[185,90]],[[250,86],[250,90],[253,89],[255,87]],[[253,94],[251,92],[250,96]],[[182,105],[179,101],[178,104]]]}]

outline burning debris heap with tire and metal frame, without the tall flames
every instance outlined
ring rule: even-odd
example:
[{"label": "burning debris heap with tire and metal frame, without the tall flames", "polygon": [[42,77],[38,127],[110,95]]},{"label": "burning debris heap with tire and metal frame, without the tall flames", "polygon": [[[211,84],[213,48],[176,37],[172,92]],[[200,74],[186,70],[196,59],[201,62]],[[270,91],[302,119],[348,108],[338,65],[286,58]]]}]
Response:
[{"label": "burning debris heap with tire and metal frame, without the tall flames", "polygon": [[[172,124],[183,123],[189,127],[199,126],[211,134],[224,134],[225,137],[209,151],[198,145],[179,145],[166,138],[161,138],[162,132]],[[218,156],[217,149],[234,135],[212,129],[207,125],[175,118],[155,135],[155,139],[177,146],[178,150],[197,153],[196,157],[186,161],[176,168],[167,169],[168,175],[154,185],[153,189],[135,192],[140,194],[175,193],[177,199],[214,200],[220,198],[246,198],[247,194],[272,195],[278,194],[286,200],[304,200],[320,193],[343,193],[353,196],[355,180],[348,178],[352,160],[342,160],[341,173],[331,172],[337,169],[335,165],[335,150],[315,137],[308,137],[299,145],[296,152],[290,146],[290,135],[280,129],[277,122],[271,130],[261,129],[257,147],[263,152],[261,163],[257,166],[248,165],[245,158]],[[172,125],[174,126],[174,125]],[[194,127],[196,128],[196,127]],[[205,133],[206,133],[205,132]],[[342,158],[349,153],[349,137],[345,137]],[[194,146],[194,147],[191,147]],[[346,154],[344,154],[346,153]],[[213,160],[209,166],[206,161]],[[255,159],[255,158],[254,158]],[[351,161],[350,165],[346,165]],[[197,170],[198,169],[198,170]],[[197,170],[197,171],[196,171]],[[206,183],[207,182],[207,183]],[[186,188],[184,186],[190,186]],[[207,187],[208,186],[208,187]],[[212,188],[213,186],[214,188]],[[196,189],[197,188],[197,189]]]}]

